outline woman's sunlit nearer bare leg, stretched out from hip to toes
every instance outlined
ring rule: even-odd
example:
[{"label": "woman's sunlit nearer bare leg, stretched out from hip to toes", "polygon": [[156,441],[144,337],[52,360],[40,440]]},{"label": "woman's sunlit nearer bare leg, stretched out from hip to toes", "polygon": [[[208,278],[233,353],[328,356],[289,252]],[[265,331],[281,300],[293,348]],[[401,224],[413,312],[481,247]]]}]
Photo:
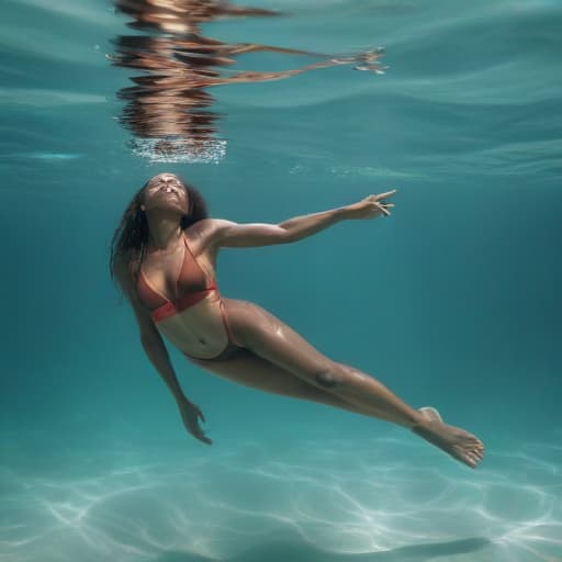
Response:
[{"label": "woman's sunlit nearer bare leg, stretched out from hip to toes", "polygon": [[[260,306],[233,299],[224,299],[224,305],[236,342],[256,356],[339,401],[349,403],[355,412],[411,428],[469,467],[474,468],[482,459],[484,447],[480,439],[463,429],[428,418],[375,379],[322,355],[296,331]],[[232,378],[235,376],[232,371]],[[259,386],[258,381],[259,378],[255,379]]]}]

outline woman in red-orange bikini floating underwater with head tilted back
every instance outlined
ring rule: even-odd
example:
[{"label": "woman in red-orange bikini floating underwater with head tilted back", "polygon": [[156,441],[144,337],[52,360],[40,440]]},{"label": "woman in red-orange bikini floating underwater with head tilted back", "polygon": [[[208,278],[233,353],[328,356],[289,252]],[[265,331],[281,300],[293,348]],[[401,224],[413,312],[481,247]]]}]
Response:
[{"label": "woman in red-orange bikini floating underwater with head tilted back", "polygon": [[171,391],[190,434],[211,443],[199,406],[183,394],[162,335],[193,363],[267,392],[319,402],[407,427],[475,468],[480,439],[415,409],[372,376],[325,357],[256,304],[223,297],[215,284],[220,248],[288,244],[348,218],[390,216],[389,191],[280,224],[209,218],[201,194],[172,173],[151,178],[133,198],[112,241],[111,272],[130,300],[143,347]]}]

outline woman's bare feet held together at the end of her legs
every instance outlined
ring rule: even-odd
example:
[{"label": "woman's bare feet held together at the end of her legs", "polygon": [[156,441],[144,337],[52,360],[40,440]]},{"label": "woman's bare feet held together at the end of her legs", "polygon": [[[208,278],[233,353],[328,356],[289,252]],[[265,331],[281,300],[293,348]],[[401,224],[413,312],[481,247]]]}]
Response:
[{"label": "woman's bare feet held together at the end of her legs", "polygon": [[412,428],[412,431],[471,469],[476,468],[484,458],[484,443],[477,437],[459,427],[443,424],[435,408],[419,408],[419,412],[423,419]]}]

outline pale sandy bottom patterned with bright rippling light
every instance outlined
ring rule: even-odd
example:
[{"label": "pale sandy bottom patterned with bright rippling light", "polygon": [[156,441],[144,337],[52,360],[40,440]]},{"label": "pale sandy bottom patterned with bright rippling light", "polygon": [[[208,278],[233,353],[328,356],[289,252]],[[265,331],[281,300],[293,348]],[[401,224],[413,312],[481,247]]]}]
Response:
[{"label": "pale sandy bottom patterned with bright rippling light", "polygon": [[282,453],[237,439],[213,458],[181,445],[175,456],[168,446],[120,446],[99,458],[85,451],[82,463],[76,451],[68,463],[59,454],[56,474],[4,467],[12,492],[1,553],[13,562],[54,560],[52,552],[60,562],[241,562],[283,553],[353,562],[383,552],[393,560],[550,562],[562,551],[562,451],[547,443],[491,453],[477,481],[457,465],[441,469],[436,451],[402,436],[321,438]]}]

